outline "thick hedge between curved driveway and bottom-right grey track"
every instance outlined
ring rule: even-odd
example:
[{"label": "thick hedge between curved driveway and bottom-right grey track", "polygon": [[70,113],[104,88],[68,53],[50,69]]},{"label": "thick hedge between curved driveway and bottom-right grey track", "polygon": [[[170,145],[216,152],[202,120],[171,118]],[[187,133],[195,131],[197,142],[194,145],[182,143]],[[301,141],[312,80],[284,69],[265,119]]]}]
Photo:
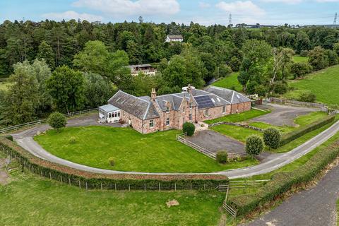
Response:
[{"label": "thick hedge between curved driveway and bottom-right grey track", "polygon": [[310,182],[338,155],[339,140],[327,148],[321,148],[307,163],[294,171],[274,174],[272,180],[261,187],[256,194],[237,196],[230,198],[228,202],[237,209],[237,215],[246,215],[259,206],[273,201],[277,196],[291,189],[293,185]]}]

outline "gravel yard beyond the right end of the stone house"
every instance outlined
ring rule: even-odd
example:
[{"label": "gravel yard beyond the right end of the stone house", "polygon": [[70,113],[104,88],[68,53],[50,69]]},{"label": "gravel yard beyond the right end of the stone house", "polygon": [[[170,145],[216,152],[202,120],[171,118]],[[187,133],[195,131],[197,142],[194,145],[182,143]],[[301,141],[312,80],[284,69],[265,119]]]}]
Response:
[{"label": "gravel yard beyond the right end of the stone house", "polygon": [[259,105],[257,108],[266,110],[270,109],[272,112],[261,117],[251,119],[251,121],[264,122],[273,126],[297,126],[295,124],[295,118],[300,115],[319,111],[319,109],[316,108],[275,104]]}]

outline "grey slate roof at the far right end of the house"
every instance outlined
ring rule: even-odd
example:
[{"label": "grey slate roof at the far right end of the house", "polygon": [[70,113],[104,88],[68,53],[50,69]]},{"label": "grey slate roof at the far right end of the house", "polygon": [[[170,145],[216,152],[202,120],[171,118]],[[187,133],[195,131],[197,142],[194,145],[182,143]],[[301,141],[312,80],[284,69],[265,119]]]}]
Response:
[{"label": "grey slate roof at the far right end of the house", "polygon": [[238,93],[237,91],[220,88],[213,85],[208,86],[208,88],[206,88],[205,91],[207,91],[208,93],[218,95],[219,97],[222,97],[223,99],[231,102],[232,104],[239,104],[242,102],[251,101],[251,99],[245,97],[244,95]]}]

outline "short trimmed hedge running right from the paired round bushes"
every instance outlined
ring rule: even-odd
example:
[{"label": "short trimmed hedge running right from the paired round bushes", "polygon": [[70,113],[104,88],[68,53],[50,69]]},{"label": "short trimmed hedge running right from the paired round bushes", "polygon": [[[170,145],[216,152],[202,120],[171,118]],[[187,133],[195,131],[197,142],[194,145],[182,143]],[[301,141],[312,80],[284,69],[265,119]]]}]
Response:
[{"label": "short trimmed hedge running right from the paired round bushes", "polygon": [[331,116],[326,117],[325,119],[315,121],[314,123],[311,123],[301,129],[296,129],[295,131],[286,133],[283,136],[281,136],[280,146],[290,143],[291,141],[294,141],[295,139],[301,136],[304,136],[306,133],[309,133],[311,131],[321,128],[322,126],[330,124],[334,120],[335,120],[335,115],[331,115]]}]

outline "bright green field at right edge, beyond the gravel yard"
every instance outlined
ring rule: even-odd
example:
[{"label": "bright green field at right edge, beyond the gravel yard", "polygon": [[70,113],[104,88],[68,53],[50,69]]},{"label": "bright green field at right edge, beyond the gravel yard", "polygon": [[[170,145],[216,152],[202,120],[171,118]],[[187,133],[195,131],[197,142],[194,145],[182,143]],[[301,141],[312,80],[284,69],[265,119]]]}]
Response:
[{"label": "bright green field at right edge, beyond the gravel yard", "polygon": [[304,90],[316,95],[317,102],[330,105],[339,104],[339,65],[311,73],[299,81],[290,81],[289,85],[295,90],[284,95],[287,99],[295,99]]}]

